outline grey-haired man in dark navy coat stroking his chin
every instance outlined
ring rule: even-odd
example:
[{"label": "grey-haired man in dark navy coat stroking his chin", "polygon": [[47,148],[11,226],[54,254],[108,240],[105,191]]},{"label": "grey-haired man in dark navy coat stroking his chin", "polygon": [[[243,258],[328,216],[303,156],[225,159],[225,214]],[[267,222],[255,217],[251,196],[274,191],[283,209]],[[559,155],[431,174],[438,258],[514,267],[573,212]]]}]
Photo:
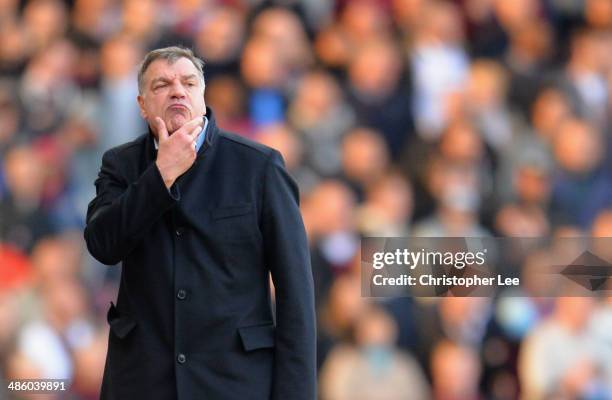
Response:
[{"label": "grey-haired man in dark navy coat stroking his chin", "polygon": [[138,84],[149,132],[104,154],[85,228],[96,259],[123,263],[101,397],[314,399],[312,273],[280,154],[215,125],[188,49],[147,54]]}]

